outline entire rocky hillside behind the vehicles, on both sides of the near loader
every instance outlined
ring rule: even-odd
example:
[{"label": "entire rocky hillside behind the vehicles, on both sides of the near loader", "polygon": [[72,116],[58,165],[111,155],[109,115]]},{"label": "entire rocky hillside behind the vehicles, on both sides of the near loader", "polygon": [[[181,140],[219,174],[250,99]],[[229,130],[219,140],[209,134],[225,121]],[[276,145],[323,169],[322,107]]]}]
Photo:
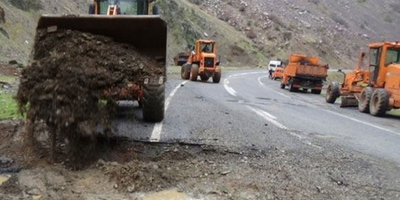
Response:
[{"label": "entire rocky hillside behind the vehicles, on both sides of the near loader", "polygon": [[[0,61],[26,63],[41,13],[86,13],[91,0],[0,0]],[[386,0],[159,0],[168,61],[214,39],[226,66],[266,66],[288,54],[353,68],[360,48],[398,39],[400,3]],[[2,19],[1,11],[4,11]]]}]

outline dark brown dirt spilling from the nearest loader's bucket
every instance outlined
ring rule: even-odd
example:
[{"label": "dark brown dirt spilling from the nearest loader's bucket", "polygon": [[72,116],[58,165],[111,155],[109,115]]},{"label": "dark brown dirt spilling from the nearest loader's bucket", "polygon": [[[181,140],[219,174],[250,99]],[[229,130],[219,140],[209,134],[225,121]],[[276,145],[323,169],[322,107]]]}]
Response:
[{"label": "dark brown dirt spilling from the nearest loader's bucket", "polygon": [[44,121],[68,139],[92,136],[99,123],[107,127],[123,88],[163,74],[159,63],[128,44],[79,31],[38,30],[17,100],[30,121]]}]

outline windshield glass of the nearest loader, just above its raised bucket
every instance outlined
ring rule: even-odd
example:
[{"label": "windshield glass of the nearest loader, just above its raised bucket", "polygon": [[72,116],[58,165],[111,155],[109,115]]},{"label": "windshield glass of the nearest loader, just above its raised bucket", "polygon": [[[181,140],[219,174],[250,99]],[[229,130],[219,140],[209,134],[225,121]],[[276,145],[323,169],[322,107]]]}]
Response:
[{"label": "windshield glass of the nearest loader, just above its raised bucket", "polygon": [[148,14],[148,1],[145,0],[101,0],[99,2],[99,14],[107,14],[108,6],[117,5],[119,14]]}]

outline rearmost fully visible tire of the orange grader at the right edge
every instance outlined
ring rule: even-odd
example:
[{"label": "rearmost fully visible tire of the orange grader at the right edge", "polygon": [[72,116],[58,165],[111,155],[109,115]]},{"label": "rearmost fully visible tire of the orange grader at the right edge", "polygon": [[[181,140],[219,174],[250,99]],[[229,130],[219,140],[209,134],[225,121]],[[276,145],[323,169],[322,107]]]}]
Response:
[{"label": "rearmost fully visible tire of the orange grader at the right edge", "polygon": [[383,88],[379,88],[372,93],[370,102],[370,113],[373,116],[382,117],[389,108],[389,93]]}]

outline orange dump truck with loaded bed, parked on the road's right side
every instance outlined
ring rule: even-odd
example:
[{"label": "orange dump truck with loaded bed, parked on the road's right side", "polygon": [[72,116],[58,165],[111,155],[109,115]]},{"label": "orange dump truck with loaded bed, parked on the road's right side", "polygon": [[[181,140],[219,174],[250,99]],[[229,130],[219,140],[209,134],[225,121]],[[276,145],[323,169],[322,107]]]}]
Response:
[{"label": "orange dump truck with loaded bed, parked on the road's right side", "polygon": [[321,94],[323,81],[328,77],[328,65],[322,66],[316,57],[292,54],[283,71],[281,88],[288,86],[290,92],[299,88],[303,91],[311,89],[312,94]]}]

